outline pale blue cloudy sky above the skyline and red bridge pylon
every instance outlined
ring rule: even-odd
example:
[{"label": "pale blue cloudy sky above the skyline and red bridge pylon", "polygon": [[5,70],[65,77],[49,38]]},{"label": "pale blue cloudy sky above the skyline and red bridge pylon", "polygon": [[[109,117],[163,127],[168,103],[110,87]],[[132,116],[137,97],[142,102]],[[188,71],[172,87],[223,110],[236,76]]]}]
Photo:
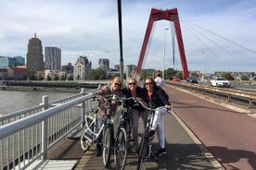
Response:
[{"label": "pale blue cloudy sky above the skyline and red bridge pylon", "polygon": [[[189,71],[256,72],[254,0],[123,0],[124,66],[138,63],[151,8],[178,9]],[[61,65],[74,65],[80,55],[94,68],[99,58],[120,64],[117,0],[1,0],[0,11],[2,56],[26,57],[36,33],[43,47],[61,49]],[[172,25],[155,23],[143,68],[182,70]]]}]

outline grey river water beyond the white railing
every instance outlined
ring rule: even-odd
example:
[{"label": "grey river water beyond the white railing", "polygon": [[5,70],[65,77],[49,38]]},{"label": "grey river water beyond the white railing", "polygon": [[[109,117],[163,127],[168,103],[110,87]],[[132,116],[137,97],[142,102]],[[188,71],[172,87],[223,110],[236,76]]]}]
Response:
[{"label": "grey river water beyond the white railing", "polygon": [[49,102],[73,95],[71,92],[53,91],[0,91],[0,115],[6,115],[42,103],[43,96]]}]

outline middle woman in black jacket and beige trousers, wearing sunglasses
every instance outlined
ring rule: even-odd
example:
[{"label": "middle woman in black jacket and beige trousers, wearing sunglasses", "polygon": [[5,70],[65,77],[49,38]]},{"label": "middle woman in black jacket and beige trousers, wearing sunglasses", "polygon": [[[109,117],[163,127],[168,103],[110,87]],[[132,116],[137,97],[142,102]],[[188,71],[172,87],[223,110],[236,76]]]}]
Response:
[{"label": "middle woman in black jacket and beige trousers, wearing sunglasses", "polygon": [[[131,78],[128,80],[127,88],[122,90],[124,95],[126,97],[135,97],[136,100],[139,100],[140,102],[147,105],[147,96],[145,95],[146,92],[144,89],[139,87],[137,85],[137,80],[134,78]],[[130,102],[132,105],[131,108],[131,116],[132,116],[132,128],[133,128],[133,138],[134,138],[134,148],[132,148],[132,152],[138,151],[138,123],[139,123],[139,117],[142,118],[144,127],[147,125],[147,110],[144,109],[141,105],[138,105],[138,103],[134,103],[134,100]]]}]

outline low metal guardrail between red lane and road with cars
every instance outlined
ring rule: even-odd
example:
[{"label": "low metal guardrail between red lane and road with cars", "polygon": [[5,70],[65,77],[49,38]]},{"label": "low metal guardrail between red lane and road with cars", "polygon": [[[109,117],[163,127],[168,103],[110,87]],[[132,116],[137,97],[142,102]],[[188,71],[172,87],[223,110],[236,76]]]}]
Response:
[{"label": "low metal guardrail between red lane and road with cars", "polygon": [[186,83],[186,82],[175,82],[175,81],[167,81],[166,83],[177,86],[182,89],[192,90],[196,92],[202,92],[202,94],[212,95],[213,98],[217,97],[226,97],[227,102],[237,102],[237,101],[246,101],[248,103],[248,107],[251,108],[255,106],[256,103],[256,92],[249,91],[237,91],[229,88],[219,88],[219,87],[211,87],[205,86],[201,84],[194,83]]}]

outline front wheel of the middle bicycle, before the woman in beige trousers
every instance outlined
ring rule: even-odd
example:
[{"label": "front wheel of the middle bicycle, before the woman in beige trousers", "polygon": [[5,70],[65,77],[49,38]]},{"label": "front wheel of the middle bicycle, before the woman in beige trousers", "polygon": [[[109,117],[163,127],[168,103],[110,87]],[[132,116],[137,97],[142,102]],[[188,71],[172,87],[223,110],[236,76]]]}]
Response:
[{"label": "front wheel of the middle bicycle, before the woman in beige trousers", "polygon": [[115,140],[115,148],[114,148],[114,159],[117,170],[122,170],[126,164],[127,158],[127,136],[124,128],[119,128]]}]

